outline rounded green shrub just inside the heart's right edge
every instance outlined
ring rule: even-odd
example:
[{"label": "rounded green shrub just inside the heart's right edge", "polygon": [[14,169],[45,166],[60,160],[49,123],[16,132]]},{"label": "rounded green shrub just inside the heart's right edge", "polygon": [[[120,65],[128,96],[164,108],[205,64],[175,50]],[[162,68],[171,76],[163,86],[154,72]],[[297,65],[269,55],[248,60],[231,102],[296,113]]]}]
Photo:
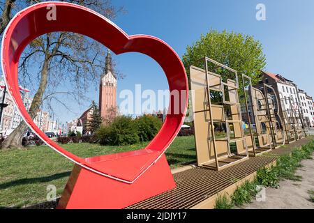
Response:
[{"label": "rounded green shrub just inside the heart's right edge", "polygon": [[151,141],[160,130],[162,123],[155,116],[141,116],[135,120],[137,135],[140,141]]}]

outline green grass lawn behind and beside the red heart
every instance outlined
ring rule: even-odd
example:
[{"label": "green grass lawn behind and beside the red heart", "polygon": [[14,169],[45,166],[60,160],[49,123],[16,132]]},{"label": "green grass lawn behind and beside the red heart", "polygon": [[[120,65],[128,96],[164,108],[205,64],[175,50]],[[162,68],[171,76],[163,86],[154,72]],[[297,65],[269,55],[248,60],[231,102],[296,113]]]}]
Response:
[{"label": "green grass lawn behind and beside the red heart", "polygon": [[[80,157],[92,157],[137,150],[146,144],[100,146],[82,143],[62,146]],[[166,155],[171,168],[196,162],[194,137],[177,137]],[[60,196],[72,168],[72,162],[48,146],[0,150],[0,208],[46,201],[47,185],[55,185],[57,195]]]}]

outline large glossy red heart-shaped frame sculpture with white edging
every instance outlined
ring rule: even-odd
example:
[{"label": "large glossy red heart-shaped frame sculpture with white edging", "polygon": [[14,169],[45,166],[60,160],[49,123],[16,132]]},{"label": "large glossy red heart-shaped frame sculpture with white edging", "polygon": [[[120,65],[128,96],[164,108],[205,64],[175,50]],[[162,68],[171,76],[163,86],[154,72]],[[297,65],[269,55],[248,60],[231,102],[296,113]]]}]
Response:
[{"label": "large glossy red heart-shaped frame sculpture with white edging", "polygon": [[[56,20],[47,20],[47,13],[53,7],[57,13]],[[33,123],[22,102],[17,78],[18,62],[24,48],[34,38],[54,31],[70,31],[89,36],[110,48],[115,54],[139,52],[151,56],[163,68],[170,92],[177,90],[180,93],[179,114],[168,112],[165,123],[156,137],[140,151],[86,159],[66,151],[49,139]],[[1,56],[8,92],[20,110],[24,121],[38,134],[40,139],[55,151],[97,174],[125,183],[133,183],[163,155],[177,136],[184,121],[188,103],[188,82],[184,66],[176,52],[167,43],[153,36],[128,36],[116,24],[88,8],[65,2],[44,2],[22,10],[10,21],[3,34]],[[178,106],[178,103],[170,98],[170,107],[174,109],[174,106]],[[114,160],[132,156],[137,156],[136,162],[128,163],[127,168],[114,162]],[[101,166],[98,165],[99,161],[102,163]]]}]

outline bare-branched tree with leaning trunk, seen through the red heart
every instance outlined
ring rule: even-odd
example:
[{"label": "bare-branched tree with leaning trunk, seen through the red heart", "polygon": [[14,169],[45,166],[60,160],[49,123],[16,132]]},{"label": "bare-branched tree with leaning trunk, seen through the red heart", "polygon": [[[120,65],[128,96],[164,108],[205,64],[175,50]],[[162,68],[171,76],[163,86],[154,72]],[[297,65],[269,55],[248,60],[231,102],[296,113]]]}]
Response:
[{"label": "bare-branched tree with leaning trunk, seen through the red heart", "polygon": [[[87,6],[110,19],[124,12],[123,7],[112,6],[110,0],[69,2]],[[36,93],[29,108],[31,118],[36,117],[44,99],[49,102],[57,100],[66,109],[66,103],[59,100],[58,94],[68,95],[80,102],[84,98],[85,90],[91,84],[98,83],[105,66],[104,54],[103,45],[77,33],[47,33],[33,40],[24,50],[19,66],[19,82],[28,83],[28,86],[38,86],[34,89]],[[34,74],[31,67],[36,65],[40,69]],[[69,85],[72,86],[70,91],[56,91],[58,87],[68,88]],[[1,148],[22,148],[22,137],[26,131],[26,123],[21,122],[3,141]]]}]

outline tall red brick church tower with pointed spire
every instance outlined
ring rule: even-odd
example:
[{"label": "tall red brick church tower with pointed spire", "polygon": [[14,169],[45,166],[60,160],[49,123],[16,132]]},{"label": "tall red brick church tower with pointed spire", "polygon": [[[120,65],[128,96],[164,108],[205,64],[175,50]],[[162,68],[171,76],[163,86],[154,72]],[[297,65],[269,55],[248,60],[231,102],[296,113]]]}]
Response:
[{"label": "tall red brick church tower with pointed spire", "polygon": [[103,120],[117,115],[117,77],[112,70],[112,59],[109,49],[105,59],[105,73],[100,77],[98,105]]}]

